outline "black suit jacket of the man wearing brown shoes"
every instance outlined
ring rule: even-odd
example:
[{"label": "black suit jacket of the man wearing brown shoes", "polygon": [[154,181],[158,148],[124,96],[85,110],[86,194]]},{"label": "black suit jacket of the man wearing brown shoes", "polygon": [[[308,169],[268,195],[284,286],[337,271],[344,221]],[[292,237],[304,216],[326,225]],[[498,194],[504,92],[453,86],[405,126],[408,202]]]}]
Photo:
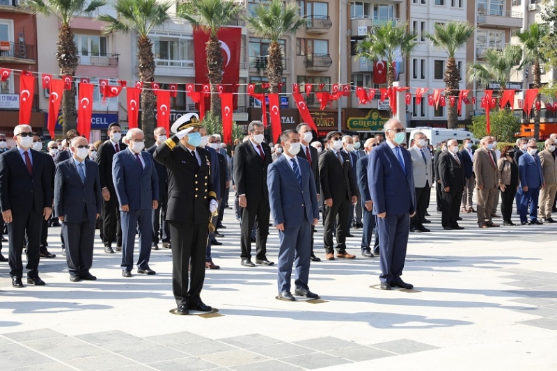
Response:
[{"label": "black suit jacket of the man wearing brown shoes", "polygon": [[333,203],[356,196],[356,182],[350,159],[345,152],[340,151],[340,154],[343,156],[344,166],[340,166],[340,161],[332,150],[319,157],[321,196],[323,200],[332,198]]}]

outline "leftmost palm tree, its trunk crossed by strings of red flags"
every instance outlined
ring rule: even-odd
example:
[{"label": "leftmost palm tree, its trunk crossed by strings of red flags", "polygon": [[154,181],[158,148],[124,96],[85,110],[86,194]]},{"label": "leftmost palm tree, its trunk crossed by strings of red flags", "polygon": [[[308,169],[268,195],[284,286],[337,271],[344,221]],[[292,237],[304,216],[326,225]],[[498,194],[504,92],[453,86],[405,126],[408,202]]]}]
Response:
[{"label": "leftmost palm tree, its trunk crossed by strings of red flags", "polygon": [[[24,0],[22,6],[35,14],[44,17],[56,17],[60,22],[58,41],[56,42],[56,61],[60,76],[74,76],[79,55],[74,41],[72,21],[79,15],[90,15],[106,3],[105,0]],[[75,111],[75,86],[71,90],[64,90],[62,95],[62,131],[68,132],[77,127],[77,113]]]}]

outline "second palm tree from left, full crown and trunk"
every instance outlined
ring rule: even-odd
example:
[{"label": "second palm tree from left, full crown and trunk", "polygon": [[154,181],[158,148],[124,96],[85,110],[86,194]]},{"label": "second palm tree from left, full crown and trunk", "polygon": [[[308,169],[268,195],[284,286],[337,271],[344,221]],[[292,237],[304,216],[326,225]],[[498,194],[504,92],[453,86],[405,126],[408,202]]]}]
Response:
[{"label": "second palm tree from left, full crown and trunk", "polygon": [[168,22],[168,9],[173,3],[162,3],[157,0],[115,0],[114,10],[118,17],[103,14],[97,17],[107,22],[102,27],[103,33],[121,32],[137,33],[137,65],[139,80],[143,81],[141,90],[141,128],[145,134],[146,145],[154,143],[153,129],[155,127],[155,94],[151,90],[151,83],[155,75],[155,55],[152,52],[152,41],[149,32],[157,26]]}]

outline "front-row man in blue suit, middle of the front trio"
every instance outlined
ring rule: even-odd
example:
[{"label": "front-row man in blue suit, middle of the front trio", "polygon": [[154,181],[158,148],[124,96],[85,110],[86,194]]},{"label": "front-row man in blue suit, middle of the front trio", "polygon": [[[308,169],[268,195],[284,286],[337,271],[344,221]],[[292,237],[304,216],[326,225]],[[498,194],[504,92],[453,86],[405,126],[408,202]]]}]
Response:
[{"label": "front-row man in blue suit, middle of the front trio", "polygon": [[299,134],[286,130],[281,134],[283,155],[269,166],[269,204],[278,230],[278,296],[276,299],[295,301],[290,292],[292,263],[296,266],[294,294],[309,299],[319,295],[308,287],[311,230],[319,220],[317,189],[309,162],[297,157]]}]

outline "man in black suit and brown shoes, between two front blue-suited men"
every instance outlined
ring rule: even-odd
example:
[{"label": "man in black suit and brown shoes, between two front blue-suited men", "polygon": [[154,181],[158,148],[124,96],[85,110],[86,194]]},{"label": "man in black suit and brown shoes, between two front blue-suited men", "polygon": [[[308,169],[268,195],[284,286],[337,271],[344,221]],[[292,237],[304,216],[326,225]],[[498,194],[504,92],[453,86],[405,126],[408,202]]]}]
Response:
[{"label": "man in black suit and brown shoes, between two front blue-suited men", "polygon": [[356,184],[348,155],[341,151],[340,132],[327,134],[329,150],[319,157],[321,194],[324,199],[323,241],[327,260],[334,260],[333,229],[336,222],[336,257],[354,259],[346,252],[346,231],[350,205],[354,205]]}]

